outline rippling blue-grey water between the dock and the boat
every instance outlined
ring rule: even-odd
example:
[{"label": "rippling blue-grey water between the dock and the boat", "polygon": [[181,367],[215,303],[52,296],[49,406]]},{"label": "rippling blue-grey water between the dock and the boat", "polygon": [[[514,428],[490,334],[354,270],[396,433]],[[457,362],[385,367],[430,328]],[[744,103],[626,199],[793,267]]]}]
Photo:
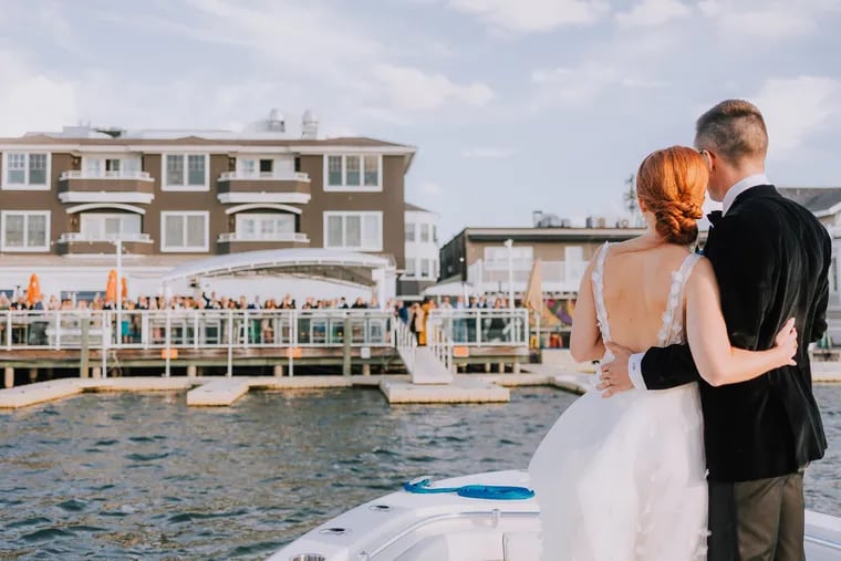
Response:
[{"label": "rippling blue-grey water between the dock and the boat", "polygon": [[[810,508],[841,515],[841,386],[817,389],[831,448]],[[390,407],[375,389],[82,395],[0,415],[0,559],[262,559],[418,475],[523,468],[574,396]]]}]

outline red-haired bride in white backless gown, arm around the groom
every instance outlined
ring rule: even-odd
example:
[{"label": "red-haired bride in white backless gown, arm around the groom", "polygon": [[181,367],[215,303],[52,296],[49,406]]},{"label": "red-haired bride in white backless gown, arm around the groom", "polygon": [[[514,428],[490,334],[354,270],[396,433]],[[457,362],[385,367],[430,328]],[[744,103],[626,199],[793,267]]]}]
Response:
[{"label": "red-haired bride in white backless gown, arm around the groom", "polygon": [[[579,289],[570,352],[610,362],[605,342],[642,352],[688,342],[713,385],[793,364],[793,320],[768,351],[730,347],[713,267],[691,252],[707,185],[692,148],[648,155],[636,194],[646,232],[605,243]],[[542,559],[706,559],[707,487],[697,384],[660,392],[593,388],[573,403],[529,465],[540,503]]]}]

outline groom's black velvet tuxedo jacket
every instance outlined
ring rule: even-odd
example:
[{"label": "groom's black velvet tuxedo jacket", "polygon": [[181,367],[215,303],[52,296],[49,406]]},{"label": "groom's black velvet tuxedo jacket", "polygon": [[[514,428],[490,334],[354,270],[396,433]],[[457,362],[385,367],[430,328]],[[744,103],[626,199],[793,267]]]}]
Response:
[{"label": "groom's black velvet tuxedo jacket", "polygon": [[648,389],[699,383],[710,480],[777,477],[823,456],[827,438],[812,395],[808,344],[827,330],[831,252],[818,219],[770,185],[739,195],[710,229],[704,254],[718,278],[730,342],[770,349],[795,316],[799,343],[797,366],[718,387],[700,378],[687,345],[645,353]]}]

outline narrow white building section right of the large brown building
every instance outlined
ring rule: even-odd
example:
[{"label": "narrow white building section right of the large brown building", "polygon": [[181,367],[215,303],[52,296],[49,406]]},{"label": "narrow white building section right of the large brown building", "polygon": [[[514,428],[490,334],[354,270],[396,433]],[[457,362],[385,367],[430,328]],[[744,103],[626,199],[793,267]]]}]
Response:
[{"label": "narrow white building section right of the large brown building", "polygon": [[399,278],[399,294],[420,298],[423,290],[438,279],[438,215],[406,202],[405,270]]}]

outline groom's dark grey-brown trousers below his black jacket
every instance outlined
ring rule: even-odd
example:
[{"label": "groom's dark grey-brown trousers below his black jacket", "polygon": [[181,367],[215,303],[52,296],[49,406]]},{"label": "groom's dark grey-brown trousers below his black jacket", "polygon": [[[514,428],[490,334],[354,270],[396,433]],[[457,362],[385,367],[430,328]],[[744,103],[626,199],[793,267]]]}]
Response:
[{"label": "groom's dark grey-brown trousers below his black jacket", "polygon": [[803,474],[709,482],[708,561],[804,561]]}]

